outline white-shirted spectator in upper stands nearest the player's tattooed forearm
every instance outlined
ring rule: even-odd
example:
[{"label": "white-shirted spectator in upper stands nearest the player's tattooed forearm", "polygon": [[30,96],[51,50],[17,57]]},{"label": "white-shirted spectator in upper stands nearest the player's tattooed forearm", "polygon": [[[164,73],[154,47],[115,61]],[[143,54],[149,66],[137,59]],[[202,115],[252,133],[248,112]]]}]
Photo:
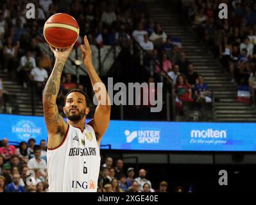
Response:
[{"label": "white-shirted spectator in upper stands nearest the player's tattooed forearm", "polygon": [[39,61],[38,67],[34,67],[30,72],[30,79],[33,82],[33,86],[35,86],[35,97],[38,99],[42,97],[42,90],[44,89],[47,78],[47,70],[40,65]]}]

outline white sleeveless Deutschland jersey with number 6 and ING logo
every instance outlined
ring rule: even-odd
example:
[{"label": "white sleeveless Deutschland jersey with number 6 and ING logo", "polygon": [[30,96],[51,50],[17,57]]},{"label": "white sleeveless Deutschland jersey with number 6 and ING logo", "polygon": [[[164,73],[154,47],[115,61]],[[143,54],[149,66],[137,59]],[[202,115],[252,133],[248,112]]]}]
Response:
[{"label": "white sleeveless Deutschland jersey with number 6 and ING logo", "polygon": [[92,126],[82,133],[69,125],[63,142],[47,150],[49,192],[97,192],[100,161]]}]

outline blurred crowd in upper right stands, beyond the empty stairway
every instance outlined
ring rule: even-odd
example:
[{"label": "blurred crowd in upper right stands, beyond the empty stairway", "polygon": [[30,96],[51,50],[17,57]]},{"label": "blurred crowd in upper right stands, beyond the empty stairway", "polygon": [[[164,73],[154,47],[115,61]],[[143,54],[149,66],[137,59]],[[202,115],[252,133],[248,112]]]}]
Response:
[{"label": "blurred crowd in upper right stands, beyond the empty stairway", "polygon": [[[226,3],[228,19],[219,18]],[[256,88],[256,2],[189,1],[183,4],[187,19],[237,85]]]}]

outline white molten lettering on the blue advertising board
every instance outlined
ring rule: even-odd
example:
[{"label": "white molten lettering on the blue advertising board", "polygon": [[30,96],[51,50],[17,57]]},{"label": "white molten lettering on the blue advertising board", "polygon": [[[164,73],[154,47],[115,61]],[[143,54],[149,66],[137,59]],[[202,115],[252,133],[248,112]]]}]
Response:
[{"label": "white molten lettering on the blue advertising board", "polygon": [[191,138],[226,138],[226,130],[191,130]]}]

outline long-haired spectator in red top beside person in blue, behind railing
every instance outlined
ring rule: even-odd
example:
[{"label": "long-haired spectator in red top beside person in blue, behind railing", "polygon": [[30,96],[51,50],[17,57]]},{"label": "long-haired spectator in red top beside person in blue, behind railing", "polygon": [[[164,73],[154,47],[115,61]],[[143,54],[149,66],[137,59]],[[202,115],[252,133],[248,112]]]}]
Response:
[{"label": "long-haired spectator in red top beside person in blue, behind railing", "polygon": [[192,89],[191,85],[187,83],[187,79],[183,74],[180,74],[177,78],[176,85],[175,85],[175,92],[181,101],[185,102],[192,102]]}]

